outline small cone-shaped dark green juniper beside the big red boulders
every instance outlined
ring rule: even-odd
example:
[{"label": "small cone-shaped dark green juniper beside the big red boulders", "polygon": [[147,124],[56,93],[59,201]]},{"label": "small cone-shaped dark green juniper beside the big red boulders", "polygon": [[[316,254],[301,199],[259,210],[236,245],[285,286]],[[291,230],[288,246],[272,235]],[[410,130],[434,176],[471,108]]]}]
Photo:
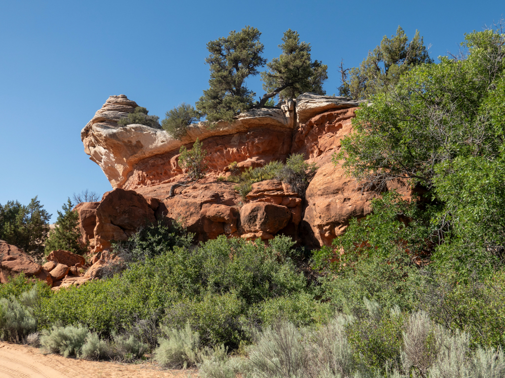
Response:
[{"label": "small cone-shaped dark green juniper beside the big red boulders", "polygon": [[87,249],[81,247],[79,237],[81,233],[78,229],[79,214],[72,211],[72,201],[70,198],[62,206],[63,212],[58,211],[56,228],[49,232],[45,241],[45,253],[49,254],[52,250],[64,249],[75,254],[83,254]]}]

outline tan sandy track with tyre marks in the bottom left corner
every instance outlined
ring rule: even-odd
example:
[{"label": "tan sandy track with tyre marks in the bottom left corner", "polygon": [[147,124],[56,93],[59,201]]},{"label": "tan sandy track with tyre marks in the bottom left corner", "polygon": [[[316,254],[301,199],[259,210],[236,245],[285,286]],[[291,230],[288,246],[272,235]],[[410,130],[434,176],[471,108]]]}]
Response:
[{"label": "tan sandy track with tyre marks in the bottom left corner", "polygon": [[0,378],[196,378],[196,370],[164,370],[152,362],[86,361],[0,342]]}]

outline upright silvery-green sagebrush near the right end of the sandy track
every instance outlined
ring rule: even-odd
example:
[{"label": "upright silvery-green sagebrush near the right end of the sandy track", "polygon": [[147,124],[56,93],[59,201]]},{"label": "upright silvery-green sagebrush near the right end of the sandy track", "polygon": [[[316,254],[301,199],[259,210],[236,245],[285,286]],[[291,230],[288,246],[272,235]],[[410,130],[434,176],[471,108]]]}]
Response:
[{"label": "upright silvery-green sagebrush near the right end of the sandy track", "polygon": [[199,362],[200,337],[198,332],[191,331],[187,323],[181,329],[161,328],[165,338],[154,352],[154,359],[163,367],[186,368]]}]

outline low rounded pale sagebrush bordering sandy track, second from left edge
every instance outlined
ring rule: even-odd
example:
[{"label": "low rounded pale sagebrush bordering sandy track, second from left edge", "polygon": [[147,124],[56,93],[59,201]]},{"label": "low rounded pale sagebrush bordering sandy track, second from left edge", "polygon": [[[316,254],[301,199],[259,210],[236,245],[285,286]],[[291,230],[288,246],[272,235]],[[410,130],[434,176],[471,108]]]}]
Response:
[{"label": "low rounded pale sagebrush bordering sandy track, second from left edge", "polygon": [[81,348],[88,336],[87,327],[81,325],[59,327],[42,331],[40,337],[41,349],[47,353],[60,353],[64,357],[80,356]]}]

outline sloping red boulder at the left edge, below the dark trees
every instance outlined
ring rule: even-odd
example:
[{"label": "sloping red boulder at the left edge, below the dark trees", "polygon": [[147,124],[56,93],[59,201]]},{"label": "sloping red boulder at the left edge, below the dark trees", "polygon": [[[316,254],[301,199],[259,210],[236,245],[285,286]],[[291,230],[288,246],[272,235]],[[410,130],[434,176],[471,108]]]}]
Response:
[{"label": "sloping red boulder at the left edge, below the dark trees", "polygon": [[33,277],[42,271],[39,264],[15,245],[0,240],[0,283],[5,283],[9,276],[24,273],[27,277]]}]

